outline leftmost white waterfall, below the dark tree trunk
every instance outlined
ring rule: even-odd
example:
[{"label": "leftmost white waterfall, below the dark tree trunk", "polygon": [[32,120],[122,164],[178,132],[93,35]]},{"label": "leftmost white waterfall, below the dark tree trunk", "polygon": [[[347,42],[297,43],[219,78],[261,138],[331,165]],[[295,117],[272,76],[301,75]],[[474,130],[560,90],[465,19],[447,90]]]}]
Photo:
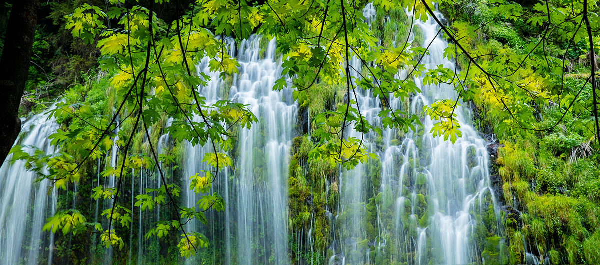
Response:
[{"label": "leftmost white waterfall, below the dark tree trunk", "polygon": [[[56,130],[58,124],[49,115],[35,115],[23,125],[16,144],[30,154],[34,149],[29,146],[53,153],[48,137]],[[52,238],[42,227],[56,210],[57,192],[49,180],[34,183],[37,174],[26,170],[24,161],[11,164],[11,158],[0,168],[0,264],[38,264],[49,258],[43,252]]]}]

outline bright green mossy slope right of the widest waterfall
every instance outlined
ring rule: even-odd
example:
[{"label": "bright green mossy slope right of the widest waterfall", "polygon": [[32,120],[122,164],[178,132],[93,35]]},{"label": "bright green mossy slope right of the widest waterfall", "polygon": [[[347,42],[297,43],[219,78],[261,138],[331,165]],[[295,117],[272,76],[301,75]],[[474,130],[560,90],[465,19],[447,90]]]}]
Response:
[{"label": "bright green mossy slope right of the widest waterfall", "polygon": [[[539,53],[544,52],[553,60],[565,56],[569,61],[564,76],[560,71],[554,72],[556,68],[549,68],[547,74],[541,73],[546,80],[552,79],[552,73],[556,73],[556,77],[564,82],[529,85],[532,89],[529,91],[536,91],[533,92],[536,96],[526,99],[530,102],[527,109],[531,113],[526,126],[515,124],[517,121],[499,112],[505,108],[503,104],[511,106],[513,100],[521,99],[518,94],[510,89],[493,88],[484,80],[481,85],[470,87],[469,92],[473,92],[473,96],[469,99],[476,104],[481,117],[475,124],[479,123],[479,129],[488,133],[494,130],[503,144],[495,167],[502,178],[503,201],[509,206],[508,211],[518,211],[506,215],[503,221],[510,263],[524,263],[525,251],[541,261],[548,258],[551,264],[597,263],[598,253],[591,251],[592,242],[597,241],[593,237],[598,233],[600,210],[600,170],[595,166],[599,158],[595,152],[598,145],[595,144],[592,104],[595,96],[592,95],[592,85],[585,80],[589,77],[590,65],[581,59],[589,52],[589,49],[585,50],[589,38],[582,35],[583,31],[581,36],[572,38],[573,32],[564,35],[559,33],[560,30],[551,31],[545,37],[545,31],[548,31],[545,28],[545,4],[514,3],[511,12],[518,11],[525,18],[515,19],[509,12],[494,18],[494,10],[502,10],[492,1],[479,1],[470,8],[458,8],[464,2],[448,2],[443,6],[446,9],[441,9],[457,18],[458,22],[453,26],[458,26],[459,31],[460,21],[472,21],[473,26],[480,28],[477,35],[464,41],[469,43],[464,47],[472,52],[476,47],[481,50],[479,54],[495,57],[483,57],[485,60],[479,64],[506,63],[515,59],[524,61],[517,71],[521,77],[514,79],[520,82],[518,80],[529,78],[524,74],[534,74],[547,66],[538,61],[544,60]],[[554,12],[559,10],[572,12],[570,8],[573,8],[561,1],[549,1],[548,4],[551,16],[556,16]],[[532,7],[534,11],[526,11],[526,8]],[[575,8],[582,7],[578,4]],[[590,8],[598,10],[595,5]],[[473,19],[470,20],[469,16]],[[539,20],[542,22],[536,22]],[[577,23],[584,24],[581,19]],[[539,53],[534,52],[523,59],[541,41],[541,37],[546,38],[543,40],[544,47],[540,45],[536,48]],[[469,68],[468,61],[458,59],[458,62],[463,70]],[[588,73],[587,77],[585,73]],[[504,101],[497,100],[499,97],[503,97]],[[498,126],[502,123],[507,126]],[[518,127],[539,131],[515,129]],[[589,244],[587,248],[584,242]]]}]

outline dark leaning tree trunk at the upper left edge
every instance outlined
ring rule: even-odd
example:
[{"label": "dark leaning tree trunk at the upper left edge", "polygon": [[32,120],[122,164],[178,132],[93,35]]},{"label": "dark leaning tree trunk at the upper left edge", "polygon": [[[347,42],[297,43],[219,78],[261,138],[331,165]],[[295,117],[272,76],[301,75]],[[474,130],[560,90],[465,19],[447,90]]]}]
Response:
[{"label": "dark leaning tree trunk at the upper left edge", "polygon": [[19,106],[29,75],[39,0],[14,1],[0,60],[0,164],[21,131]]}]

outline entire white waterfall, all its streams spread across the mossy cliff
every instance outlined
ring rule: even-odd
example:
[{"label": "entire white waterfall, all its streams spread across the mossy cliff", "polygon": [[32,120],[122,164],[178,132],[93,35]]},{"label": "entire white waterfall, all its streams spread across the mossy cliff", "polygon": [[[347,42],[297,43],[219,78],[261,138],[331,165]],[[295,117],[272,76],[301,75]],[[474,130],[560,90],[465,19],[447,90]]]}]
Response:
[{"label": "entire white waterfall, all its streams spread across the mossy cliff", "polygon": [[[375,18],[372,4],[367,5],[364,15],[369,22]],[[417,21],[415,24],[424,32],[425,45],[433,41],[430,55],[425,56],[422,63],[429,69],[439,64],[454,69],[455,65],[443,58],[444,41],[441,38],[434,40],[439,29],[435,22]],[[239,74],[221,80],[218,73],[209,71],[209,60],[203,60],[197,71],[211,76],[211,82],[199,88],[200,94],[207,104],[226,98],[245,104],[259,122],[251,130],[237,133],[237,147],[230,153],[234,166],[222,170],[212,187],[212,192],[218,192],[224,198],[224,212],[207,212],[208,225],[190,222],[186,226],[187,231],[204,233],[212,245],[209,251],[202,250],[188,261],[289,264],[287,174],[298,107],[288,89],[272,91],[281,74],[281,62],[275,59],[275,40],[264,41],[253,36],[239,45],[230,40],[228,44],[230,55],[237,57],[241,65]],[[355,69],[362,68],[356,58],[352,65]],[[416,78],[415,83],[421,94],[415,95],[409,103],[392,99],[390,106],[418,114],[437,99],[457,97],[451,86],[422,85],[421,78]],[[381,127],[377,116],[382,110],[380,99],[364,91],[357,93],[356,102],[361,113],[371,124]],[[427,117],[421,119],[422,127],[406,134],[388,129],[383,130],[380,138],[374,134],[365,135],[369,152],[377,153],[380,159],[341,173],[340,209],[334,211],[337,216],[326,212],[334,240],[331,246],[334,256],[329,258],[329,263],[366,264],[377,260],[407,264],[485,262],[482,249],[478,249],[473,237],[484,225],[475,215],[487,212],[490,206],[494,215],[499,213],[494,208],[495,198],[490,189],[488,153],[485,141],[470,126],[469,111],[459,107],[456,113],[463,137],[454,144],[432,137],[429,131],[434,122]],[[47,138],[58,125],[44,122],[46,119],[47,116],[38,115],[26,122],[26,133],[18,143],[52,153]],[[202,122],[200,118],[196,121]],[[354,130],[349,130],[349,134],[361,137]],[[168,135],[160,137],[159,153],[169,144],[168,139]],[[110,159],[99,160],[98,170],[109,165],[115,167],[117,151],[115,145]],[[210,144],[186,146],[182,189],[188,188],[190,176],[209,170],[202,162],[209,152],[212,152]],[[144,236],[161,215],[167,215],[167,209],[157,206],[151,211],[141,211],[134,206],[133,198],[145,194],[146,188],[158,188],[166,183],[161,183],[158,173],[140,170],[132,174],[135,177],[127,191],[130,195],[119,198],[131,203],[136,224],[135,228],[132,225],[126,240],[130,245],[129,261],[155,262],[160,260],[164,246],[158,240]],[[179,177],[173,176],[173,172],[168,174],[167,182]],[[41,228],[56,210],[58,192],[49,189],[47,180],[33,183],[35,174],[26,171],[22,161],[5,163],[0,169],[0,177],[0,264],[40,263],[47,257],[43,252],[53,240],[49,234],[42,233]],[[115,186],[114,176],[101,179],[98,174],[93,178],[94,186],[100,183],[104,187]],[[73,207],[79,207],[75,205],[76,198],[86,196],[88,194],[74,192]],[[193,191],[184,192],[183,204],[195,207],[200,196],[202,194]],[[100,213],[111,205],[109,200],[92,201],[90,209],[95,212],[95,221],[102,219]],[[312,224],[301,236],[308,237],[311,249]],[[496,230],[494,232],[500,233],[496,224],[491,226]],[[97,241],[94,239],[92,243]],[[97,248],[104,247],[98,244]],[[103,259],[93,261],[111,263],[112,249],[104,251],[98,251],[104,255]],[[52,251],[48,255],[52,255]],[[47,259],[52,261],[51,256]]]}]

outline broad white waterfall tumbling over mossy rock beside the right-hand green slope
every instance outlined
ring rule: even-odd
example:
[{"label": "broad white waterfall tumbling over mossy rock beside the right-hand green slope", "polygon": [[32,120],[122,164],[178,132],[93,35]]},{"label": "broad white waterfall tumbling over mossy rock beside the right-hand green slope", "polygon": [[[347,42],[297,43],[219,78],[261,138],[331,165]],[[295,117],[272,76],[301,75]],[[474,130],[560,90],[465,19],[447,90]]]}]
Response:
[{"label": "broad white waterfall tumbling over mossy rock beside the right-hand green slope", "polygon": [[[368,19],[373,19],[372,9],[369,4],[364,10]],[[424,32],[426,46],[433,41],[422,64],[427,69],[437,65],[454,69],[443,56],[447,44],[436,38],[436,22],[417,20],[415,26]],[[352,64],[361,69],[358,60],[353,59]],[[424,85],[422,77],[415,77],[415,83],[421,93],[410,104],[392,99],[393,109],[419,115],[424,106],[436,100],[457,98],[452,86]],[[361,92],[356,101],[365,118],[380,127],[380,100]],[[499,217],[490,188],[490,162],[485,141],[470,125],[469,110],[458,107],[456,114],[463,136],[454,144],[434,138],[430,131],[435,122],[425,116],[421,118],[423,126],[407,134],[388,129],[382,138],[365,135],[370,152],[379,155],[381,164],[370,161],[342,175],[342,210],[338,216],[342,225],[337,232],[342,253],[338,260],[348,264],[373,260],[407,264],[484,262],[483,249],[474,239],[476,228],[484,224],[474,213],[487,214],[491,207],[493,215]],[[355,131],[350,134],[361,137]],[[491,226],[497,233],[497,224]]]}]

